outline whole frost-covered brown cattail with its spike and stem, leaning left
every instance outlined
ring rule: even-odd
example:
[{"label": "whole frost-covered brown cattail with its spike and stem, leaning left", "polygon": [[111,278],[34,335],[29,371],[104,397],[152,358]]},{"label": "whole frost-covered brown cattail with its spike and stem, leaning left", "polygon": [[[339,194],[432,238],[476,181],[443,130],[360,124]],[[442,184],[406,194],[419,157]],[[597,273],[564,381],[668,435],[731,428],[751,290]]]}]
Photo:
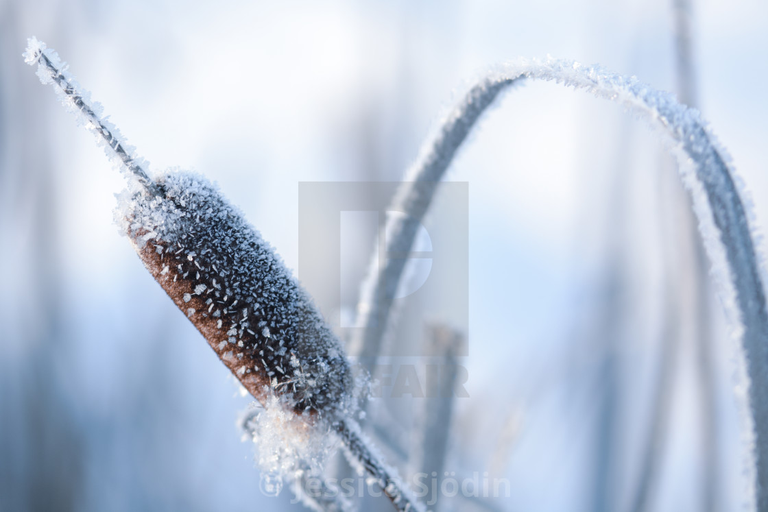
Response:
[{"label": "whole frost-covered brown cattail with its spike and stem, leaning left", "polygon": [[295,484],[319,473],[341,441],[398,510],[418,508],[360,433],[346,355],[269,243],[204,177],[151,179],[55,51],[31,38],[24,56],[129,178],[116,220],[144,266],[263,405],[250,428],[260,438],[260,469]]}]

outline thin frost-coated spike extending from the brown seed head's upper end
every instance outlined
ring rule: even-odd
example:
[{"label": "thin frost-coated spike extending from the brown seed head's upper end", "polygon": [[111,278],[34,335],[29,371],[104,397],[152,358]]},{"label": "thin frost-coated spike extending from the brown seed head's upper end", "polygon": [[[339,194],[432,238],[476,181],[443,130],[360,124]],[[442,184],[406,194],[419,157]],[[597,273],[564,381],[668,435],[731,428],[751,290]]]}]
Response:
[{"label": "thin frost-coated spike extending from the brown seed head's upper end", "polygon": [[34,36],[27,41],[27,49],[22,54],[24,61],[38,66],[37,75],[42,84],[52,84],[58,99],[65,108],[75,115],[78,124],[91,130],[98,144],[104,148],[104,153],[126,177],[129,182],[147,187],[152,193],[157,193],[154,183],[147,174],[148,163],[134,154],[135,148],[125,143],[120,130],[114,126],[108,117],[104,117],[101,104],[91,101],[91,93],[81,88],[68,71],[69,66],[58,57],[56,51],[47,48],[43,41]]}]

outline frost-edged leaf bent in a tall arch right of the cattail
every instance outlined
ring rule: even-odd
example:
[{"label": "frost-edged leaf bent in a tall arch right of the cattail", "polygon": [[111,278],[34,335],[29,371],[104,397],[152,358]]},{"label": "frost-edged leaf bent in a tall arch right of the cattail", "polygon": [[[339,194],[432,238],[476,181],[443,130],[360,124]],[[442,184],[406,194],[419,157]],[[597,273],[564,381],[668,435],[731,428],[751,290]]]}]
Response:
[{"label": "frost-edged leaf bent in a tall arch right of the cattail", "polygon": [[[680,176],[694,199],[720,299],[733,325],[733,338],[740,340],[743,348],[743,365],[737,371],[742,374],[743,388],[749,390],[752,413],[751,418],[745,415],[745,435],[749,452],[754,456],[748,462],[748,478],[754,484],[749,494],[756,503],[750,505],[768,510],[768,312],[763,287],[765,265],[756,253],[760,236],[743,182],[736,177],[730,157],[717,144],[698,111],[637,78],[614,74],[599,66],[551,58],[507,64],[475,85],[442,122],[434,139],[422,148],[390,207],[407,215],[392,219],[392,226],[386,227],[386,232],[395,233],[387,242],[386,251],[406,252],[411,248],[436,183],[475,121],[499,91],[523,78],[555,81],[623,104],[657,128],[664,144],[677,157]],[[412,221],[402,222],[403,219]],[[353,353],[379,353],[391,316],[392,298],[402,278],[402,261],[389,259],[380,273],[376,266],[369,267],[358,308],[364,329],[353,344]]]}]

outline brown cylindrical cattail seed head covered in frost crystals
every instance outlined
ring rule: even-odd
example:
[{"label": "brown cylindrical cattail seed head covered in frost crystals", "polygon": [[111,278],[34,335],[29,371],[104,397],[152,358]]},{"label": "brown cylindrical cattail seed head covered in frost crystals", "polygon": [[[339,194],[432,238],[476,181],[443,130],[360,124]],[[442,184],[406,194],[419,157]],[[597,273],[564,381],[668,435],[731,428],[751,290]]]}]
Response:
[{"label": "brown cylindrical cattail seed head covered in frost crystals", "polygon": [[336,336],[280,257],[217,187],[192,173],[124,193],[118,222],[150,271],[262,404],[333,420],[352,376]]}]

